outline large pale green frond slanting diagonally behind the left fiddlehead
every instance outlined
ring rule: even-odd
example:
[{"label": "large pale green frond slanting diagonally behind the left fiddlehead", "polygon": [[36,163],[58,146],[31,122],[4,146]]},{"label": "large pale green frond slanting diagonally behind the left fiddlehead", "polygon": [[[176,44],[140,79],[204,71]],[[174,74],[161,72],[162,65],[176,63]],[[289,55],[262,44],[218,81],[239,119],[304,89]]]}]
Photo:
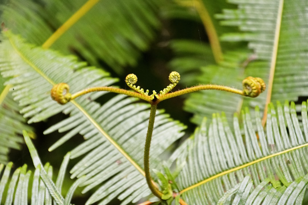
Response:
[{"label": "large pale green frond slanting diagonally behind the left fiddlehead", "polygon": [[[144,144],[140,143],[147,132],[149,104],[136,103],[135,98],[118,95],[100,105],[94,100],[104,92],[96,92],[59,105],[50,97],[50,89],[55,83],[66,82],[70,92],[75,93],[87,87],[107,86],[116,80],[101,69],[85,67],[85,63],[77,62],[75,57],[63,57],[51,50],[29,46],[14,35],[7,35],[9,41],[3,40],[0,44],[0,70],[4,76],[17,75],[6,84],[13,85],[14,100],[23,106],[24,117],[30,117],[28,122],[31,123],[59,112],[70,114],[44,132],[67,132],[51,146],[51,150],[78,133],[86,139],[71,151],[71,158],[87,153],[71,170],[71,177],[86,175],[83,192],[100,185],[87,204],[96,201],[106,204],[115,197],[127,204],[150,195],[143,173]],[[163,111],[157,111],[151,168],[160,168],[159,156],[183,135],[184,128]]]}]

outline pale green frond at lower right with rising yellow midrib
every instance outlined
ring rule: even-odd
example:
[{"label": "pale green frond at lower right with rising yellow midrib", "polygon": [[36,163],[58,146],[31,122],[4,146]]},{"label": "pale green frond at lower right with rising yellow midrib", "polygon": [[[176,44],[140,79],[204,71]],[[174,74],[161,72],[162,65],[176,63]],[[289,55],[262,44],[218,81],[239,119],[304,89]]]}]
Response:
[{"label": "pale green frond at lower right with rising yellow midrib", "polygon": [[[176,155],[177,164],[186,160],[177,178],[180,190],[191,187],[182,194],[186,203],[302,204],[308,183],[306,146],[240,166],[308,143],[307,103],[302,104],[303,131],[294,103],[278,104],[277,110],[271,104],[266,128],[261,125],[260,111],[255,113],[253,124],[248,109],[242,112],[242,129],[237,116],[231,128],[225,115],[213,115],[209,126],[203,121],[174,153],[170,160]],[[231,169],[235,170],[205,181]]]}]

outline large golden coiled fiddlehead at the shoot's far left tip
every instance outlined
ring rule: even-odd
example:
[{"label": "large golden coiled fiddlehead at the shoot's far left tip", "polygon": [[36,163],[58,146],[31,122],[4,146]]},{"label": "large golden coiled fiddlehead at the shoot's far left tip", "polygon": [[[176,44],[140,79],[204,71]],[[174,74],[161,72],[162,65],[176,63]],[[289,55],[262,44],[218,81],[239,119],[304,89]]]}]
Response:
[{"label": "large golden coiled fiddlehead at the shoot's far left tip", "polygon": [[66,104],[71,100],[70,86],[66,83],[59,83],[51,89],[51,98],[59,104]]}]

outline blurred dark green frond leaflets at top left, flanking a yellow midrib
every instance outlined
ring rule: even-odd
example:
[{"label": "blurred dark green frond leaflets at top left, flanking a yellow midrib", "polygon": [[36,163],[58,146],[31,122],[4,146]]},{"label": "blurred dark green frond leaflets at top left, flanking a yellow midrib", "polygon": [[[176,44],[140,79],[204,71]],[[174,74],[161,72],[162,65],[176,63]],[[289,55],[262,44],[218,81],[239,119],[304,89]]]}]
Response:
[{"label": "blurred dark green frond leaflets at top left, flanking a yellow midrib", "polygon": [[[1,22],[29,42],[44,41],[71,17],[86,1],[10,0],[0,5]],[[160,26],[158,1],[104,0],[65,32],[52,48],[63,53],[78,53],[92,65],[102,59],[116,72],[123,66],[135,66],[140,51],[148,49]],[[44,5],[44,6],[42,6]],[[95,22],[95,23],[94,23]],[[27,29],[25,29],[27,28]]]}]

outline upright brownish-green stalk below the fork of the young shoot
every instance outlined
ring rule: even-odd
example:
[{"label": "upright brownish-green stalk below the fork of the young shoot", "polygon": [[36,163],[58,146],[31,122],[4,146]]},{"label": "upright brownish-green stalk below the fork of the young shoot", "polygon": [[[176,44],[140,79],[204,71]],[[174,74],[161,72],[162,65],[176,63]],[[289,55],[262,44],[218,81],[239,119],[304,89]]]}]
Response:
[{"label": "upright brownish-green stalk below the fork of the young shoot", "polygon": [[148,125],[148,132],[147,132],[147,137],[145,139],[145,145],[144,145],[144,172],[145,172],[145,178],[147,179],[147,183],[148,183],[150,190],[155,196],[161,199],[161,196],[163,194],[158,190],[156,185],[153,183],[153,180],[150,174],[150,164],[149,164],[150,145],[151,145],[152,133],[153,133],[153,128],[154,128],[156,108],[157,108],[157,104],[151,103],[151,112],[150,112],[150,119],[149,119],[149,125]]}]

